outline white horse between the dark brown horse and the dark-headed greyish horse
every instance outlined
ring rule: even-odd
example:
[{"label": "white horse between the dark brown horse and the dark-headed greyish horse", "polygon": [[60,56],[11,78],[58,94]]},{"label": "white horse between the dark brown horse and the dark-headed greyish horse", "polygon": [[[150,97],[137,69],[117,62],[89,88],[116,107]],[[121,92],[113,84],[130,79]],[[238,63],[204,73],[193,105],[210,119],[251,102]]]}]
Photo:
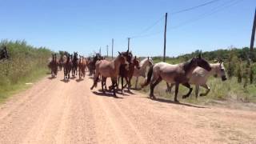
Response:
[{"label": "white horse between the dark brown horse and the dark-headed greyish horse", "polygon": [[152,65],[154,65],[152,58],[147,57],[147,58],[144,58],[141,62],[139,62],[140,69],[135,67],[134,74],[133,74],[134,77],[136,77],[135,89],[137,89],[137,86],[138,86],[138,77],[146,78],[146,67],[152,66]]}]

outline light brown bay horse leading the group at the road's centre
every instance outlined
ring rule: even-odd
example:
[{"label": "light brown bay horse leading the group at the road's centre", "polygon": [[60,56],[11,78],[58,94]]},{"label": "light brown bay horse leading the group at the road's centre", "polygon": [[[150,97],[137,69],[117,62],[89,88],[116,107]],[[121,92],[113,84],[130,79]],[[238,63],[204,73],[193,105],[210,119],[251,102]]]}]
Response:
[{"label": "light brown bay horse leading the group at the road's centre", "polygon": [[93,90],[94,87],[97,86],[98,82],[98,76],[101,74],[102,75],[102,92],[105,93],[105,90],[103,89],[103,82],[106,82],[106,78],[111,78],[112,81],[112,90],[114,96],[115,94],[115,87],[117,83],[117,77],[119,74],[119,68],[122,64],[126,63],[126,57],[118,52],[118,57],[115,58],[112,61],[107,61],[107,60],[99,60],[96,62],[96,70],[95,70],[95,75],[94,75],[94,84],[93,86],[90,87],[90,90]]}]

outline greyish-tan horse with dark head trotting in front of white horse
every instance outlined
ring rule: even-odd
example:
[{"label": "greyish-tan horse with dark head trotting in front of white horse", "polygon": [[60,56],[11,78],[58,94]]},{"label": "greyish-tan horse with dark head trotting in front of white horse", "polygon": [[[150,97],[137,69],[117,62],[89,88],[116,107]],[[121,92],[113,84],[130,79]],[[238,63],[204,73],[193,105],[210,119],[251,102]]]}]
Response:
[{"label": "greyish-tan horse with dark head trotting in front of white horse", "polygon": [[150,83],[150,98],[155,99],[154,87],[157,86],[159,82],[164,80],[169,83],[175,83],[174,102],[178,102],[177,95],[179,84],[182,84],[190,89],[190,91],[183,95],[182,98],[187,98],[190,96],[193,88],[190,87],[189,80],[193,70],[197,66],[200,66],[207,71],[211,70],[210,64],[205,59],[201,58],[201,54],[199,54],[197,58],[191,58],[187,62],[176,65],[170,65],[166,62],[158,62],[153,66],[150,66],[146,82],[142,83],[142,87],[147,86]]}]

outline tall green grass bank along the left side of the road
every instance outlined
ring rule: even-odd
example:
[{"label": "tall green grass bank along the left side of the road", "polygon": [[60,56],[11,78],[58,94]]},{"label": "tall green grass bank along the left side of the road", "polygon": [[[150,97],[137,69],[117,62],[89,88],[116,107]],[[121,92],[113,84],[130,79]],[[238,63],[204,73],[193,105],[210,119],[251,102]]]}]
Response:
[{"label": "tall green grass bank along the left side of the road", "polygon": [[45,47],[34,47],[25,41],[0,42],[7,46],[10,59],[0,61],[0,102],[16,90],[23,89],[25,82],[34,81],[46,74],[46,62],[51,51]]}]

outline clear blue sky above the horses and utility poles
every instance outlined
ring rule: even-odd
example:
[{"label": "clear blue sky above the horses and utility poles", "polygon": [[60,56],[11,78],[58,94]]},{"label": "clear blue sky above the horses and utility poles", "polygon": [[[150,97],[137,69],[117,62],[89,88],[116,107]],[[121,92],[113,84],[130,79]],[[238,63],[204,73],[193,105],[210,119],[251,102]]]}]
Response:
[{"label": "clear blue sky above the horses and utility poles", "polygon": [[[26,40],[50,50],[88,56],[114,38],[114,54],[163,54],[250,46],[255,0],[0,0],[0,39]],[[186,10],[203,3],[206,6]],[[111,52],[109,51],[109,54]]]}]

